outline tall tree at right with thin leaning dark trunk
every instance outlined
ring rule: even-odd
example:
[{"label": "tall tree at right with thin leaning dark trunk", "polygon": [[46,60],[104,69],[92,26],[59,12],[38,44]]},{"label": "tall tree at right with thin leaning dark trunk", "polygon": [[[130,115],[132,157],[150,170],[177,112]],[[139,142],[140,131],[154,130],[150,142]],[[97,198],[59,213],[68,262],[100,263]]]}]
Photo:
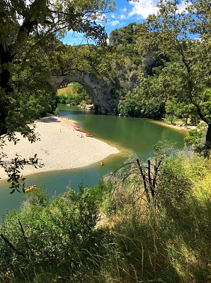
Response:
[{"label": "tall tree at right with thin leaning dark trunk", "polygon": [[145,50],[147,58],[157,58],[160,54],[170,58],[171,64],[162,69],[154,85],[156,91],[159,89],[162,98],[176,97],[196,107],[200,119],[208,126],[206,150],[209,151],[211,112],[209,99],[203,92],[211,84],[210,3],[188,0],[185,7],[182,3],[166,0],[157,4],[157,15],[150,15],[141,25],[138,48]]}]

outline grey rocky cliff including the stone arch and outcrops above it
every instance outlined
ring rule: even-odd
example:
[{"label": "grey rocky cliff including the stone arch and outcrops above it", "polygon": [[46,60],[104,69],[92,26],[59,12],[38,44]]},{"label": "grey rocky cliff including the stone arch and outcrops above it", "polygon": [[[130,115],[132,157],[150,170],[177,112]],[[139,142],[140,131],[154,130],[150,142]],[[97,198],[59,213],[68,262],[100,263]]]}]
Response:
[{"label": "grey rocky cliff including the stone arch and outcrops above it", "polygon": [[[134,38],[137,33],[138,26],[134,23],[119,30],[113,30],[110,33],[109,44],[123,46],[122,50],[125,58],[125,64],[122,64],[119,68],[116,68],[114,63],[114,79],[111,78],[109,73],[104,78],[99,79],[93,74],[76,72],[71,76],[52,77],[51,85],[58,89],[63,83],[78,82],[88,92],[96,110],[102,114],[116,115],[121,95],[125,95],[129,90],[132,90],[137,82],[138,73],[141,72],[143,76],[146,76],[147,69],[153,64],[152,60],[144,61],[140,59],[139,54],[135,54],[133,51],[127,54],[127,50],[135,42]],[[133,57],[136,58],[135,61]]]}]

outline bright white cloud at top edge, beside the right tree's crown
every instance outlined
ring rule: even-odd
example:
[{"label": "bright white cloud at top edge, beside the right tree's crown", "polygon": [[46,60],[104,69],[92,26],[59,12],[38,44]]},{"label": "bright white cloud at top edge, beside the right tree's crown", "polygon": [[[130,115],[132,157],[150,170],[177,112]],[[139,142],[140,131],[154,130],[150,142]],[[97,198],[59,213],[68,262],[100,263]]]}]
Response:
[{"label": "bright white cloud at top edge, beside the right tree's crown", "polygon": [[139,2],[129,2],[132,5],[132,10],[128,16],[132,17],[138,15],[143,19],[146,19],[149,14],[157,14],[156,1],[154,0],[140,0]]}]

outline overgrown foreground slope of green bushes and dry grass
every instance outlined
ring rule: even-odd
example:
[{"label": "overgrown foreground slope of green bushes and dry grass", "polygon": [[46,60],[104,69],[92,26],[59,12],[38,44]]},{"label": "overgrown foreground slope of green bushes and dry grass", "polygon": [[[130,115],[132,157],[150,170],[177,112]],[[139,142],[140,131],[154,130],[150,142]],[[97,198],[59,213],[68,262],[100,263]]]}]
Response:
[{"label": "overgrown foreground slope of green bushes and dry grass", "polygon": [[1,226],[1,280],[209,282],[210,160],[155,148],[77,195],[25,194]]}]

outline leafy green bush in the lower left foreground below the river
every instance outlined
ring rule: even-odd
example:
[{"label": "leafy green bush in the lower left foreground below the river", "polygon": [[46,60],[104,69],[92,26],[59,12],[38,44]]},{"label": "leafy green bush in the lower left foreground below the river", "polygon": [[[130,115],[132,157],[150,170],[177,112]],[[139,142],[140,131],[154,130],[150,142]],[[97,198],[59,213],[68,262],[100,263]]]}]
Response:
[{"label": "leafy green bush in the lower left foreground below the river", "polygon": [[74,257],[92,236],[99,217],[100,188],[81,184],[77,195],[69,189],[51,201],[44,189],[38,186],[26,193],[21,211],[7,213],[1,233],[15,250],[0,239],[0,274],[22,277],[34,270],[54,269],[66,257]]}]

